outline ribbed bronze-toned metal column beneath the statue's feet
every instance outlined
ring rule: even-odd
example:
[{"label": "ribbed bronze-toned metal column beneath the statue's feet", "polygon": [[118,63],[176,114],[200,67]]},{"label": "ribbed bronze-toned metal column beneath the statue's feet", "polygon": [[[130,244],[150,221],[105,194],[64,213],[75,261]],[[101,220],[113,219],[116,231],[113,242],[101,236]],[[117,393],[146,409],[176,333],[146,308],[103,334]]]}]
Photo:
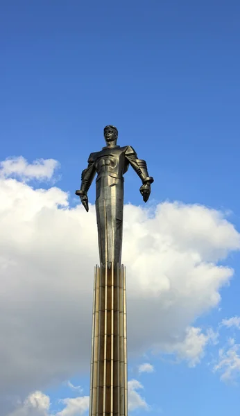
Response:
[{"label": "ribbed bronze-toned metal column beneath the statue's feet", "polygon": [[89,416],[128,415],[126,269],[94,272]]}]

